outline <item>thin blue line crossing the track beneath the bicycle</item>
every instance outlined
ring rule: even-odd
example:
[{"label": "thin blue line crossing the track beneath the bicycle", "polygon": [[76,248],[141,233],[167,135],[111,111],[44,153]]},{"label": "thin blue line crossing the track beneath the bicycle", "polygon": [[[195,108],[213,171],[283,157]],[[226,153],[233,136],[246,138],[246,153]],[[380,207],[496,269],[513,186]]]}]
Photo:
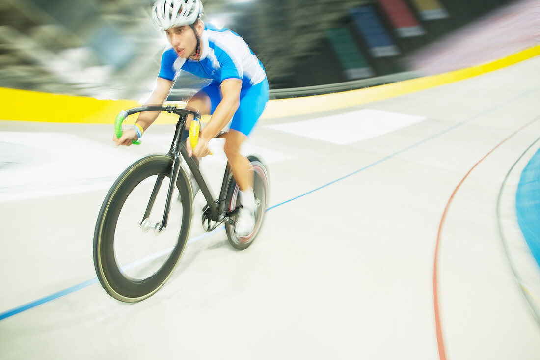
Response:
[{"label": "thin blue line crossing the track beneath the bicycle", "polygon": [[[353,176],[353,175],[355,175],[355,174],[358,174],[359,172],[364,171],[364,170],[366,170],[366,169],[369,169],[369,168],[371,168],[372,166],[375,166],[375,165],[380,164],[380,163],[382,163],[382,162],[384,162],[384,161],[387,161],[388,159],[391,159],[391,158],[393,158],[393,157],[396,157],[397,155],[400,155],[402,152],[405,152],[405,151],[407,151],[407,150],[413,149],[413,148],[415,148],[416,146],[422,145],[423,143],[426,143],[426,142],[430,141],[431,139],[434,139],[434,138],[436,138],[436,137],[439,137],[439,136],[441,136],[441,135],[444,135],[444,134],[446,134],[447,132],[452,131],[452,130],[454,130],[454,129],[456,129],[456,128],[458,128],[458,127],[460,127],[460,126],[462,126],[462,125],[464,125],[464,124],[466,124],[466,123],[468,123],[468,122],[470,122],[470,121],[473,121],[474,119],[476,119],[476,118],[478,118],[478,117],[484,116],[484,115],[486,115],[486,114],[489,114],[489,113],[492,112],[492,111],[495,111],[495,110],[497,110],[497,109],[500,109],[500,108],[502,108],[502,106],[504,106],[504,105],[510,104],[510,103],[512,103],[512,102],[515,102],[515,101],[517,101],[517,100],[519,100],[519,99],[525,97],[525,96],[528,96],[528,95],[530,95],[530,94],[533,94],[534,92],[536,92],[536,91],[538,91],[538,90],[540,90],[540,86],[539,86],[538,88],[535,88],[535,89],[531,89],[531,90],[525,91],[523,94],[521,94],[521,95],[519,95],[519,96],[516,96],[516,97],[514,97],[514,98],[512,98],[512,99],[510,99],[510,100],[508,100],[508,101],[505,101],[504,103],[498,104],[498,105],[496,105],[496,106],[493,106],[492,108],[489,108],[489,109],[487,109],[487,110],[484,110],[484,111],[482,111],[480,114],[474,115],[474,116],[472,116],[472,117],[470,117],[470,118],[468,118],[468,119],[463,120],[462,122],[459,122],[459,123],[457,123],[457,124],[455,124],[455,125],[452,125],[452,126],[450,126],[449,128],[447,128],[447,129],[445,129],[445,130],[443,130],[443,131],[437,132],[437,134],[435,134],[435,135],[431,135],[430,137],[428,137],[428,138],[426,138],[426,139],[423,139],[422,141],[417,142],[416,144],[410,145],[410,146],[408,146],[407,148],[404,148],[404,149],[402,149],[402,150],[396,151],[396,152],[394,152],[394,154],[388,155],[387,157],[384,157],[384,158],[380,159],[379,161],[376,161],[376,162],[374,162],[374,163],[372,163],[372,164],[369,164],[369,165],[367,165],[367,166],[364,166],[363,168],[361,168],[361,169],[359,169],[359,170],[356,170],[356,171],[354,171],[354,172],[351,172],[351,173],[348,174],[348,175],[342,176],[342,177],[340,177],[339,179],[335,179],[334,181],[331,181],[331,182],[329,182],[329,183],[327,183],[327,184],[324,184],[324,185],[322,185],[322,186],[319,186],[318,188],[313,189],[313,190],[311,190],[311,191],[308,191],[308,192],[306,192],[305,194],[296,196],[296,197],[294,197],[294,198],[292,198],[292,199],[288,199],[287,201],[284,201],[284,202],[279,203],[279,204],[277,204],[277,205],[271,206],[270,208],[266,209],[266,211],[275,209],[275,208],[277,208],[278,206],[281,206],[281,205],[284,205],[284,204],[286,204],[286,203],[292,202],[292,201],[294,201],[294,200],[296,200],[296,199],[299,199],[299,198],[301,198],[301,197],[303,197],[303,196],[306,196],[306,195],[308,195],[308,194],[311,194],[312,192],[315,192],[315,191],[317,191],[317,190],[321,190],[321,189],[323,189],[323,188],[326,188],[326,186],[332,185],[333,183],[338,182],[338,181],[341,181],[341,180],[343,180],[343,179],[345,179],[345,178],[347,178],[347,177],[349,177],[349,176]],[[221,228],[221,230],[223,230],[223,228]],[[218,230],[218,231],[221,231],[221,230]],[[195,241],[198,241],[198,240],[200,240],[200,239],[203,239],[203,238],[205,238],[205,237],[207,237],[207,236],[210,236],[210,235],[213,235],[213,234],[215,234],[215,230],[214,230],[213,232],[208,233],[208,234],[203,234],[203,235],[197,236],[197,237],[195,237],[195,238],[192,238],[192,239],[190,239],[187,243],[188,243],[188,244],[194,243]],[[30,303],[27,303],[27,304],[24,304],[24,305],[21,305],[21,306],[17,306],[16,308],[13,308],[13,309],[8,310],[8,311],[4,311],[4,312],[0,313],[0,321],[2,321],[2,320],[5,319],[5,318],[8,318],[8,317],[10,317],[10,316],[13,316],[13,315],[15,315],[15,314],[19,314],[19,312],[23,312],[23,311],[26,311],[26,310],[28,310],[28,309],[34,308],[34,307],[37,306],[37,305],[40,305],[40,304],[49,302],[49,301],[51,301],[51,300],[57,299],[57,298],[59,298],[59,297],[61,297],[61,296],[64,296],[64,295],[71,294],[71,292],[74,292],[74,291],[77,291],[77,290],[86,288],[86,286],[90,286],[90,285],[92,285],[92,284],[95,284],[96,282],[97,282],[97,278],[93,278],[93,279],[91,279],[91,280],[89,280],[89,281],[85,281],[85,282],[83,282],[83,283],[80,283],[80,284],[71,286],[70,288],[67,288],[67,289],[60,290],[60,291],[58,291],[58,292],[55,292],[54,294],[51,294],[51,295],[49,295],[49,296],[45,296],[45,297],[42,297],[42,298],[40,298],[40,299],[37,299],[36,301],[32,301],[32,302],[30,302]]]}]

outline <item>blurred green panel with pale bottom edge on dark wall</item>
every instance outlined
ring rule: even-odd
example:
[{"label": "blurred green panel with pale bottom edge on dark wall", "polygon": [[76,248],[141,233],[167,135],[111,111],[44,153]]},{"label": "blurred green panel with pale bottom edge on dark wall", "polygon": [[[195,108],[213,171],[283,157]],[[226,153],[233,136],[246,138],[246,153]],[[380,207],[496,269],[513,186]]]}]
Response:
[{"label": "blurred green panel with pale bottom edge on dark wall", "polygon": [[327,29],[325,32],[347,79],[360,79],[374,75],[347,28]]}]

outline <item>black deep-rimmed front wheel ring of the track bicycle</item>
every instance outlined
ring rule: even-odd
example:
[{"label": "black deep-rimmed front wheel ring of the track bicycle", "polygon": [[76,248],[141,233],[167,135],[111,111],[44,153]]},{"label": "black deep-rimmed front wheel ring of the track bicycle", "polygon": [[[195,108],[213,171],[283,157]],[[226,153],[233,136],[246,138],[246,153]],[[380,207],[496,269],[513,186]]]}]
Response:
[{"label": "black deep-rimmed front wheel ring of the track bicycle", "polygon": [[[99,211],[93,242],[94,265],[100,284],[119,301],[137,302],[155,294],[172,275],[184,251],[191,227],[193,196],[186,171],[180,167],[176,186],[183,199],[183,215],[180,219],[180,233],[170,257],[153,275],[136,280],[124,276],[114,255],[114,232],[127,197],[139,183],[151,176],[164,175],[170,178],[172,163],[173,158],[169,155],[150,155],[133,163],[114,182]],[[170,218],[169,222],[178,220]]]}]

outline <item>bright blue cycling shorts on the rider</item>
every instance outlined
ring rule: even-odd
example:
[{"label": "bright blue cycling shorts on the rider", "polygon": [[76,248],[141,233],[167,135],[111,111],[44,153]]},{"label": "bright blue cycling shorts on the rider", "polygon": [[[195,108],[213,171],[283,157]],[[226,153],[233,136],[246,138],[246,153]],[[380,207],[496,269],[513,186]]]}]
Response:
[{"label": "bright blue cycling shorts on the rider", "polygon": [[[202,90],[210,97],[210,101],[212,102],[210,114],[214,114],[215,108],[221,102],[220,85],[217,81],[212,81],[210,85]],[[259,120],[267,102],[268,80],[266,78],[257,85],[242,89],[240,91],[240,105],[233,115],[231,129],[240,131],[242,134],[248,136],[251,130],[253,130],[255,123]]]}]

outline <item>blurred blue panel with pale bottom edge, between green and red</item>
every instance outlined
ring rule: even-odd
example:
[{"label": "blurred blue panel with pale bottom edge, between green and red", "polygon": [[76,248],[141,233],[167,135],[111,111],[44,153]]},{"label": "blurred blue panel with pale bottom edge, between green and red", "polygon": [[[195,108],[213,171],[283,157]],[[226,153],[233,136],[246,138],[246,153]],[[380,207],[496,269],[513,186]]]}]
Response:
[{"label": "blurred blue panel with pale bottom edge, between green and red", "polygon": [[350,15],[373,57],[388,57],[400,54],[392,38],[384,29],[373,6],[366,5],[350,9]]}]

